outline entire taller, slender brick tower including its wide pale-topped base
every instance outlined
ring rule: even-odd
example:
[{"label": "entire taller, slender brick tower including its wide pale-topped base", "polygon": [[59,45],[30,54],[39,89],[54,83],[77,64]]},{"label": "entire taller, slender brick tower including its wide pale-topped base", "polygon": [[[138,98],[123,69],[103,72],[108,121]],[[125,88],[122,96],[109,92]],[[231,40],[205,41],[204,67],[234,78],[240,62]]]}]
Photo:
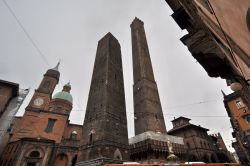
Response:
[{"label": "entire taller, slender brick tower including its wide pale-topped base", "polygon": [[135,136],[129,139],[130,159],[140,163],[164,163],[169,151],[183,158],[184,142],[167,135],[158,88],[150,60],[144,23],[135,18],[131,27]]}]

